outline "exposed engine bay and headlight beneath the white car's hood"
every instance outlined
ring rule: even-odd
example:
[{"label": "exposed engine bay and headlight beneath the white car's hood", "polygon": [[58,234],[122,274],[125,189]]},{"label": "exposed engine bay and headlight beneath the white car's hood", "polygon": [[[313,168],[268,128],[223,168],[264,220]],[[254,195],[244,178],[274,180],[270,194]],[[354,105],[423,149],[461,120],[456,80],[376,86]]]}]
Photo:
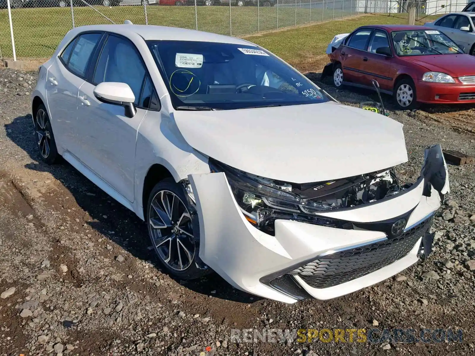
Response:
[{"label": "exposed engine bay and headlight beneath the white car's hood", "polygon": [[263,178],[212,160],[213,172],[226,173],[246,219],[273,234],[276,219],[351,228],[351,224],[318,216],[320,212],[368,204],[398,194],[401,185],[393,168],[359,176],[312,183],[288,183]]}]

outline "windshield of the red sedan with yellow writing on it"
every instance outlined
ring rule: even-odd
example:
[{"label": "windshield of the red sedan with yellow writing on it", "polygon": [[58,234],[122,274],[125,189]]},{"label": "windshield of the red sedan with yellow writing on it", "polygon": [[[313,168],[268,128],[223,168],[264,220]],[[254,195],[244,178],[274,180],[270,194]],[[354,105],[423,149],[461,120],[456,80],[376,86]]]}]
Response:
[{"label": "windshield of the red sedan with yellow writing on it", "polygon": [[398,56],[463,53],[454,41],[437,30],[395,31],[391,35]]}]

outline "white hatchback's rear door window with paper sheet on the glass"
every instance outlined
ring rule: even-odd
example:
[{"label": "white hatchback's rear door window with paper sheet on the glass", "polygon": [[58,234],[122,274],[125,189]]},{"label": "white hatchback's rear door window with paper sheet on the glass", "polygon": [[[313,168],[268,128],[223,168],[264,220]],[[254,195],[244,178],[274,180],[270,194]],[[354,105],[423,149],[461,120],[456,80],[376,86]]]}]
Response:
[{"label": "white hatchback's rear door window with paper sheet on the glass", "polygon": [[69,57],[67,68],[74,74],[84,78],[91,56],[101,38],[102,33],[80,35]]}]

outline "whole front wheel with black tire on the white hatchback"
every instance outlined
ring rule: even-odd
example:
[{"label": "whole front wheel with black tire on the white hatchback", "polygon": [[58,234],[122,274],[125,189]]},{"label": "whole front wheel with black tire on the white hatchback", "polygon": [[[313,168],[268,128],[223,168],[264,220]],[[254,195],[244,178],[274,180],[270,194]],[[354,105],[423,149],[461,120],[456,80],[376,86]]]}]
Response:
[{"label": "whole front wheel with black tire on the white hatchback", "polygon": [[145,221],[154,251],[168,272],[185,280],[209,273],[198,268],[196,263],[198,216],[191,209],[183,188],[173,179],[164,179],[153,187]]}]

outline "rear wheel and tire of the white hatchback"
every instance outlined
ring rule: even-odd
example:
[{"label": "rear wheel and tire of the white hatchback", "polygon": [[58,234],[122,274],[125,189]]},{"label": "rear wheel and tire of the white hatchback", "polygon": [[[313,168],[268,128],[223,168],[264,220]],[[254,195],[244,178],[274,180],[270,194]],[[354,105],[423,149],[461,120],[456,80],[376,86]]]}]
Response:
[{"label": "rear wheel and tire of the white hatchback", "polygon": [[35,137],[41,159],[47,164],[55,164],[59,161],[60,156],[45,105],[40,104],[34,115]]}]

